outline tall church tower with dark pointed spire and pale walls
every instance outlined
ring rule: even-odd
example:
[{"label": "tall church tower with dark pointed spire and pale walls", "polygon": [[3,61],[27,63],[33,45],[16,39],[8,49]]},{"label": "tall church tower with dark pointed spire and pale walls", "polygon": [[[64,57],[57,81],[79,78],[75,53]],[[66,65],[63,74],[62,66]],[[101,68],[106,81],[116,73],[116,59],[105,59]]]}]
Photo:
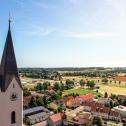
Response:
[{"label": "tall church tower with dark pointed spire and pale walls", "polygon": [[22,126],[23,90],[9,29],[0,66],[0,126]]}]

